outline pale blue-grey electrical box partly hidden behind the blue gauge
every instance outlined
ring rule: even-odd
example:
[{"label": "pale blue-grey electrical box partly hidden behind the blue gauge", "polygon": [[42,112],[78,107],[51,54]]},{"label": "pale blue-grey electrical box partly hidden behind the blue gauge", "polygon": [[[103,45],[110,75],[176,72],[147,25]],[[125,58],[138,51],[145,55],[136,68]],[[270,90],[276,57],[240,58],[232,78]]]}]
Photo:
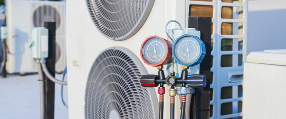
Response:
[{"label": "pale blue-grey electrical box partly hidden behind the blue gauge", "polygon": [[[180,28],[176,28],[176,29],[169,29],[168,30],[168,34],[172,37],[173,40],[176,40],[178,37],[184,35],[184,34],[189,34],[189,35],[194,35],[197,37],[201,37],[201,32],[197,31],[195,28],[184,28],[184,29],[180,29]],[[170,42],[170,44],[172,44],[172,40],[168,37],[168,41]],[[173,45],[173,44],[172,44]],[[178,64],[175,60],[174,60],[174,72],[175,72],[175,76],[176,77],[180,77],[181,76],[181,71],[183,70],[183,65]],[[167,72],[168,75],[170,75],[170,72],[172,71],[172,59],[168,62],[167,65]],[[200,64],[197,64],[195,66],[190,66],[189,70],[188,70],[188,75],[191,74],[199,74],[200,73]],[[180,84],[178,84],[178,86],[180,86]]]}]

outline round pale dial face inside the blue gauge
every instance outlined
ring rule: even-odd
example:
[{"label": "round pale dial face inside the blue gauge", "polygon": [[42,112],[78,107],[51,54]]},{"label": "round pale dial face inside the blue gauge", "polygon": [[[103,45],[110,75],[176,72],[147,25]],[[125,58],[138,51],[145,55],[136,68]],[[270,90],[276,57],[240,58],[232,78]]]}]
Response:
[{"label": "round pale dial face inside the blue gauge", "polygon": [[193,37],[186,36],[179,39],[174,46],[174,55],[182,63],[189,64],[201,55],[200,43]]}]

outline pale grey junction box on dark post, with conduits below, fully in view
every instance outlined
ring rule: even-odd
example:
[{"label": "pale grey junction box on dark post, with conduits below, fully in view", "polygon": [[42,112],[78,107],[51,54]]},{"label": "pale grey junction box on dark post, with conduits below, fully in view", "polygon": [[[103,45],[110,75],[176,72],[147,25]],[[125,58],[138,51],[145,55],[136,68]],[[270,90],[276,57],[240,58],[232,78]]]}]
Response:
[{"label": "pale grey junction box on dark post, with conduits below, fully in view", "polygon": [[48,58],[49,30],[44,27],[36,27],[32,30],[31,54],[35,59]]}]

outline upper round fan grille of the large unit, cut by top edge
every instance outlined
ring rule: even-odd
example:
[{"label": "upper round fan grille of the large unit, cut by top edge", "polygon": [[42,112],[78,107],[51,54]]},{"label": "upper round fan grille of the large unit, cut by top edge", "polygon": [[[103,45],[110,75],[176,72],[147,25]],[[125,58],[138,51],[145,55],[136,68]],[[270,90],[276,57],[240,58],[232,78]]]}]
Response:
[{"label": "upper round fan grille of the large unit, cut by top edge", "polygon": [[86,0],[93,23],[106,37],[124,40],[147,19],[154,0]]}]

